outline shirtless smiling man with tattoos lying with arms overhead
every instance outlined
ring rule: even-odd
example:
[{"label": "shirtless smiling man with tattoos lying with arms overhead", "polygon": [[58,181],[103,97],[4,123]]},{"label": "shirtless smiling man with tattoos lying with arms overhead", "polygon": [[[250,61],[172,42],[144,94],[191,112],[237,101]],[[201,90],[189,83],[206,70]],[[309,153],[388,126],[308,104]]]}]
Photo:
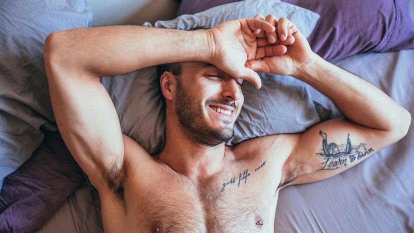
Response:
[{"label": "shirtless smiling man with tattoos lying with arms overhead", "polygon": [[[53,32],[44,59],[57,125],[99,192],[107,232],[272,232],[281,188],[342,172],[402,138],[410,124],[407,110],[320,58],[292,22],[273,15],[194,31]],[[151,157],[122,134],[99,78],[171,62],[160,77],[166,142]],[[261,85],[253,70],[309,83],[346,118],[225,146],[243,104],[241,82]],[[352,150],[343,144],[345,154],[325,154],[326,135],[339,147],[350,140]]]}]

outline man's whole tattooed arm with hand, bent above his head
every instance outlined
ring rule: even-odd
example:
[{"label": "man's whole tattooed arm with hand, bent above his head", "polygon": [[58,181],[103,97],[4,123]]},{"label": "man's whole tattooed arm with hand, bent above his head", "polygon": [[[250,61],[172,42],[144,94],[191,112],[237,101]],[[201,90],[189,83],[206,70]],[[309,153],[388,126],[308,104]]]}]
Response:
[{"label": "man's whole tattooed arm with hand, bent above his head", "polygon": [[[346,117],[319,123],[301,134],[286,135],[294,147],[284,162],[279,187],[328,178],[407,133],[411,115],[388,95],[313,53],[289,20],[276,20],[272,15],[256,17],[276,23],[278,35],[292,29],[294,42],[286,45],[282,55],[265,56],[247,65],[256,71],[291,75],[307,82],[329,97]],[[261,36],[266,39],[269,35]],[[279,36],[274,43],[286,42]]]}]

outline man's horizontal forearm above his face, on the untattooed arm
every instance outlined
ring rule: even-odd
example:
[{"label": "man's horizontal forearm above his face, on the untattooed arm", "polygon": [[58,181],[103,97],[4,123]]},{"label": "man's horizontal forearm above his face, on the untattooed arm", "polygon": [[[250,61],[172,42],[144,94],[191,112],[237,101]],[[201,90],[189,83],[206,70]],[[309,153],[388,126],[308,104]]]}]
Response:
[{"label": "man's horizontal forearm above his face, on the untattooed arm", "polygon": [[102,77],[162,63],[205,60],[209,46],[203,30],[121,25],[54,32],[46,39],[45,53],[62,65]]}]

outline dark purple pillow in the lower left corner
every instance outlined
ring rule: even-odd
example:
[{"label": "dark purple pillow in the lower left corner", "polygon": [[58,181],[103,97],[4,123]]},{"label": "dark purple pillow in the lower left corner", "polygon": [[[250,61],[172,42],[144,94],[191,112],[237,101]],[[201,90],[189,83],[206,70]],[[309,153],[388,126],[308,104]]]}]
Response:
[{"label": "dark purple pillow in the lower left corner", "polygon": [[33,232],[42,227],[84,181],[59,132],[45,132],[31,157],[4,178],[0,232]]}]

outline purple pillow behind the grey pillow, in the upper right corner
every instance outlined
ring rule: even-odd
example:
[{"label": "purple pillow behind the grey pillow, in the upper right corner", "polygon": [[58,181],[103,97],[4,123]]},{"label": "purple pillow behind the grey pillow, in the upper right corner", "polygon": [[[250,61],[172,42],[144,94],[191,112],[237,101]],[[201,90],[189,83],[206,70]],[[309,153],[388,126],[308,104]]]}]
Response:
[{"label": "purple pillow behind the grey pillow, in the upper right corner", "polygon": [[[237,0],[182,0],[180,14],[192,14]],[[414,48],[414,22],[406,0],[283,0],[320,15],[308,41],[326,60],[359,52]],[[277,15],[276,15],[277,16]]]}]

